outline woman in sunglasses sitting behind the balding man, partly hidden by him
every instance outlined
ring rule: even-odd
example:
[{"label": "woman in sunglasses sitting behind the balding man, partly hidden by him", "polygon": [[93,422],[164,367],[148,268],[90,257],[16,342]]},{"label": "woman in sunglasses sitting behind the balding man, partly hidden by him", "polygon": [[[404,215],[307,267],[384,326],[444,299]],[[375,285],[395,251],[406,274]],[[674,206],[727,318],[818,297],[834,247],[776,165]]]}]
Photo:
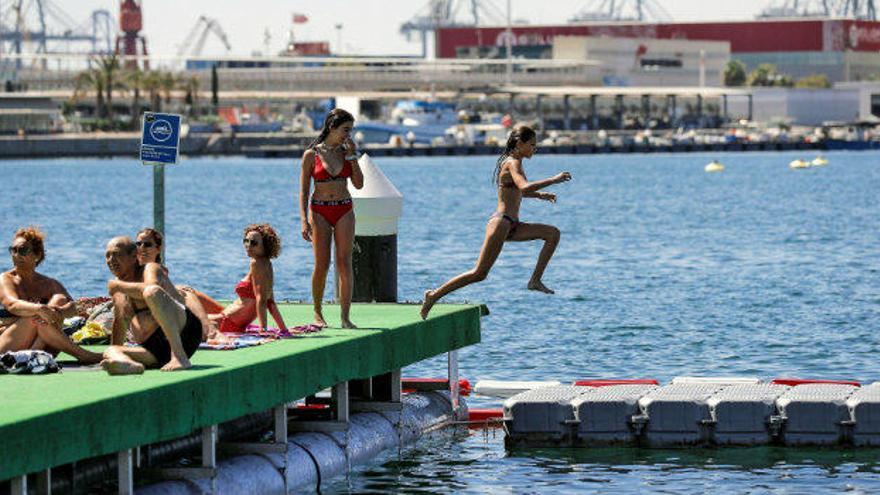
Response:
[{"label": "woman in sunglasses sitting behind the balding man, partly hidden by him", "polygon": [[[149,227],[141,229],[137,233],[137,237],[135,237],[138,265],[144,267],[147,266],[147,263],[157,263],[161,266],[162,272],[167,276],[168,267],[162,263],[162,244],[164,241],[165,236],[158,230]],[[209,312],[222,311],[223,307],[221,306],[220,310],[217,311],[210,311],[214,309],[213,306],[209,308],[202,306],[199,298],[202,294],[199,291],[184,285],[179,285],[176,288],[180,295],[183,296],[187,309],[202,322],[202,341],[226,341],[226,337],[217,330],[217,326],[208,318]],[[151,318],[152,315],[149,311],[141,311],[139,314],[134,315],[134,318],[131,320],[132,331],[137,332],[142,325],[151,325],[152,323],[149,321]]]}]

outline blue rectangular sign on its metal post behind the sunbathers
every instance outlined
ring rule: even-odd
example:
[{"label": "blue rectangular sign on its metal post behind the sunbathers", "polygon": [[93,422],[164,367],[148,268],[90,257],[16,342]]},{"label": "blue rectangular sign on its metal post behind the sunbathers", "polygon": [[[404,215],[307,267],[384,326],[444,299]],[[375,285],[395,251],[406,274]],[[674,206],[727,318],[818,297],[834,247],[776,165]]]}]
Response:
[{"label": "blue rectangular sign on its metal post behind the sunbathers", "polygon": [[[153,166],[153,228],[165,234],[165,165],[180,156],[180,115],[145,112],[141,122],[140,157]],[[162,245],[163,251],[165,245]],[[164,255],[164,253],[163,253]]]}]

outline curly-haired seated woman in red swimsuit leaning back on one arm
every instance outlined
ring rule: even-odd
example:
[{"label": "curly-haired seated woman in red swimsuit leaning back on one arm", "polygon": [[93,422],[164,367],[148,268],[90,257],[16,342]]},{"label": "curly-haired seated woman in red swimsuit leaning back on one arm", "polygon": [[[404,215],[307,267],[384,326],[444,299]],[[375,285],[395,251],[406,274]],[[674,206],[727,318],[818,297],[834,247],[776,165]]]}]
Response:
[{"label": "curly-haired seated woman in red swimsuit leaning back on one arm", "polygon": [[199,299],[221,332],[244,332],[254,318],[259,322],[260,329],[265,331],[268,326],[267,313],[271,313],[278,329],[287,333],[272,291],[272,258],[277,258],[281,253],[281,238],[269,224],[251,224],[244,229],[243,242],[251,263],[247,275],[235,286],[238,298],[226,308],[204,294],[199,293]]}]

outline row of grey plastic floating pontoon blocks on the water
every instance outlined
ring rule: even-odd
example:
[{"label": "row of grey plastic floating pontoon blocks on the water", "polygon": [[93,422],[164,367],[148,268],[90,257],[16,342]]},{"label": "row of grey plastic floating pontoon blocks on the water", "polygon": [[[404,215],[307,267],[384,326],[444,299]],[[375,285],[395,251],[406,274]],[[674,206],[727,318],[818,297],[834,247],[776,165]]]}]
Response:
[{"label": "row of grey plastic floating pontoon blocks on the water", "polygon": [[[505,444],[880,446],[880,382],[755,377],[578,380],[504,402]],[[583,385],[581,385],[583,384]]]}]

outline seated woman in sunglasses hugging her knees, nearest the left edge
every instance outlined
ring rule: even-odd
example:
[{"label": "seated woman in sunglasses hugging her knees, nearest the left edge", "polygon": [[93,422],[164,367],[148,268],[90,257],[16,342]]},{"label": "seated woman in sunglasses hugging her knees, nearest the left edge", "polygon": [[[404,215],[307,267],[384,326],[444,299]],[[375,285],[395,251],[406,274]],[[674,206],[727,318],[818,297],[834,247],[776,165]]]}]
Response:
[{"label": "seated woman in sunglasses hugging her knees, nearest the left edge", "polygon": [[13,268],[0,274],[0,354],[42,349],[100,362],[100,354],[79,347],[61,331],[64,318],[76,316],[76,305],[63,285],[36,271],[46,257],[44,239],[35,227],[18,229],[12,238]]}]

